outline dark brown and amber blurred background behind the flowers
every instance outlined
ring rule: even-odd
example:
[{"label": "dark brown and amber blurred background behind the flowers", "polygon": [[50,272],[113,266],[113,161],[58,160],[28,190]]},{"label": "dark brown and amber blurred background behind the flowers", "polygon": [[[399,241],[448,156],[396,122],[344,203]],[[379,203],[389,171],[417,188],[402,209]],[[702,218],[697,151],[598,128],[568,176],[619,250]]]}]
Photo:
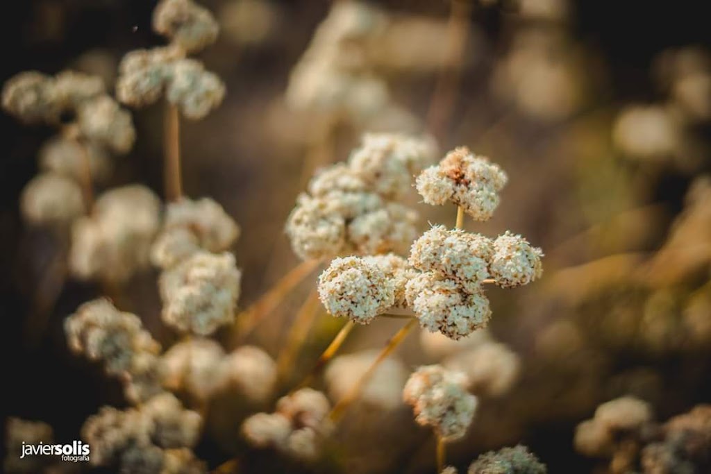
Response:
[{"label": "dark brown and amber blurred background behind the flowers", "polygon": [[[0,80],[75,68],[110,86],[125,53],[163,42],[151,32],[154,4],[10,2],[0,18]],[[217,200],[242,227],[234,249],[244,271],[240,306],[298,263],[283,228],[314,163],[345,160],[364,131],[429,132],[442,155],[466,145],[509,175],[495,217],[466,228],[492,236],[512,230],[546,254],[540,281],[488,291],[491,333],[518,355],[520,375],[506,394],[483,398],[469,436],[449,450],[451,463],[464,467],[483,451],[520,442],[551,473],[592,472],[595,461],[575,453],[572,436],[599,403],[634,394],[665,420],[711,399],[711,29],[704,2],[371,2],[387,17],[385,30],[375,45],[356,41],[343,55],[368,55],[368,74],[387,87],[387,104],[338,112],[285,100],[294,65],[331,2],[203,4],[221,31],[201,59],[223,78],[227,95],[206,119],[183,123],[184,188]],[[454,27],[452,11],[459,15]],[[161,112],[134,111],[136,146],[114,159],[102,186],[139,182],[161,195]],[[25,225],[18,210],[52,131],[6,114],[0,131],[1,411],[46,421],[56,438],[71,440],[99,406],[126,404],[118,382],[70,355],[62,330],[63,318],[102,289],[53,277],[61,242]],[[316,162],[307,158],[315,146]],[[412,205],[422,230],[427,222],[454,223],[454,209],[417,204],[416,195]],[[169,344],[176,335],[161,325],[156,275],[135,276],[114,300]],[[273,354],[280,328],[314,281],[252,342]],[[302,370],[339,324],[319,319]],[[396,328],[397,321],[363,328],[343,352],[379,348]],[[436,359],[417,336],[398,357],[407,367]],[[433,469],[432,441],[408,408],[375,427],[356,421],[339,435],[351,446],[341,472]],[[212,467],[233,454],[214,441],[196,453]],[[255,453],[247,472],[283,468],[272,462]]]}]

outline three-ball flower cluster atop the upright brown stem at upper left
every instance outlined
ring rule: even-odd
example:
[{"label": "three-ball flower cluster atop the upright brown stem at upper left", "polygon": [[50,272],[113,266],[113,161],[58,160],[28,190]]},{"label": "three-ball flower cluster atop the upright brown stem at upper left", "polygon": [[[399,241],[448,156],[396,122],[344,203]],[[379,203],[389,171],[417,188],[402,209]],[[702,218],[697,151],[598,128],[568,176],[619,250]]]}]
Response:
[{"label": "three-ball flower cluster atop the upright brown stem at upper left", "polygon": [[186,54],[215,41],[215,18],[191,0],[161,0],[154,10],[153,28],[169,38],[170,45],[125,55],[119,65],[117,97],[132,107],[144,107],[165,95],[185,117],[205,117],[222,102],[225,85]]}]

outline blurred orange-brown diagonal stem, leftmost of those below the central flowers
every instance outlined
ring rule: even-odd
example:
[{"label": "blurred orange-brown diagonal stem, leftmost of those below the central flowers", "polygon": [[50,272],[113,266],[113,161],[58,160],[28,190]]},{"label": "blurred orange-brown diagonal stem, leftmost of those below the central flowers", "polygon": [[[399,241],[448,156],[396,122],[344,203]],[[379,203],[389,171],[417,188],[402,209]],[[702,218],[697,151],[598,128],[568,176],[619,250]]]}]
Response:
[{"label": "blurred orange-brown diagonal stem, leftmost of those below the central flowers", "polygon": [[301,281],[304,281],[306,276],[309,276],[320,263],[321,261],[319,259],[306,260],[282,276],[282,279],[277,281],[277,284],[272,286],[272,289],[267,291],[267,293],[264,293],[264,296],[237,315],[237,323],[233,330],[233,337],[245,338],[246,335],[255,328],[257,323],[259,323],[264,316],[274,311],[274,309],[282,303],[284,298],[286,298]]}]

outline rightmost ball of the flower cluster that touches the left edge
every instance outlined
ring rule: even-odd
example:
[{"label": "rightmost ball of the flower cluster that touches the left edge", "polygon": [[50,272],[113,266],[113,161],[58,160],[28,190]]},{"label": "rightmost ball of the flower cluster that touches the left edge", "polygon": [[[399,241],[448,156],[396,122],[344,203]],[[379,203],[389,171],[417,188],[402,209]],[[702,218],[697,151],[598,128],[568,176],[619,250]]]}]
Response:
[{"label": "rightmost ball of the flower cluster that touches the left edge", "polygon": [[87,139],[114,153],[128,153],[136,140],[131,114],[108,95],[82,102],[77,109],[77,122]]}]

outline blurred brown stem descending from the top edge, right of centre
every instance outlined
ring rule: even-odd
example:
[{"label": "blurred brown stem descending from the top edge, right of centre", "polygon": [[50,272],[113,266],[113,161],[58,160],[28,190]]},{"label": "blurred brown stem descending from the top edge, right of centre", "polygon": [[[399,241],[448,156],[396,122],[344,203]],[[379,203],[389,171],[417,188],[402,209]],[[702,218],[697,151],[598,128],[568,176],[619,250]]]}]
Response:
[{"label": "blurred brown stem descending from the top edge, right of centre", "polygon": [[471,0],[452,0],[451,2],[447,26],[449,60],[439,72],[427,113],[427,129],[440,143],[443,141],[444,131],[447,130],[456,96],[459,93],[462,58],[464,58],[464,49],[469,38],[471,9]]}]

